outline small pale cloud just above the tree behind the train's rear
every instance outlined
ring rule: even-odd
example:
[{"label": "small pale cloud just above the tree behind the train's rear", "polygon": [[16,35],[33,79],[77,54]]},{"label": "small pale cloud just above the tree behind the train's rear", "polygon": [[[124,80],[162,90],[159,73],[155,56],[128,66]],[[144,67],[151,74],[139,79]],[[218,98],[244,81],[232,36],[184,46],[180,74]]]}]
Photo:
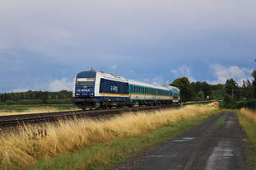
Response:
[{"label": "small pale cloud just above the tree behind the train's rear", "polygon": [[186,65],[178,67],[177,69],[171,69],[170,72],[174,73],[176,78],[178,78],[180,76],[186,76],[189,78],[189,81],[191,81],[191,82],[196,81],[192,76],[191,68]]}]

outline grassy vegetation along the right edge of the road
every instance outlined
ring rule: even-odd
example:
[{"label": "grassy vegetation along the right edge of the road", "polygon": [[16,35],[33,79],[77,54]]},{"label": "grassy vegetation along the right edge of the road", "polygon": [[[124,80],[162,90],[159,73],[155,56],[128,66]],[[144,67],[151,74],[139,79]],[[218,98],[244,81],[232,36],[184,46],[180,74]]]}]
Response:
[{"label": "grassy vegetation along the right edge of the road", "polygon": [[242,108],[238,113],[240,125],[248,136],[246,155],[249,165],[256,168],[256,112]]}]

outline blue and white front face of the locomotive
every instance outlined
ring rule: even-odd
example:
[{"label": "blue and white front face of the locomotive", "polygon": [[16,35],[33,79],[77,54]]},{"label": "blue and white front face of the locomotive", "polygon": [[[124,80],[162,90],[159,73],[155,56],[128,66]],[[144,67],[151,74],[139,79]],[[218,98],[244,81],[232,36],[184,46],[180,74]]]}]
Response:
[{"label": "blue and white front face of the locomotive", "polygon": [[81,71],[75,78],[73,103],[79,108],[95,107],[96,71]]}]

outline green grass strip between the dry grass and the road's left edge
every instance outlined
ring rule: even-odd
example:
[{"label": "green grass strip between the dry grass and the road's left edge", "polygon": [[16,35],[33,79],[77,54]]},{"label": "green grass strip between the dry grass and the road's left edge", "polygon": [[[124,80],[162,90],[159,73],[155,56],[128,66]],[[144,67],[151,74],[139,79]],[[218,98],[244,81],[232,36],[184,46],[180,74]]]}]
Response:
[{"label": "green grass strip between the dry grass and the road's left edge", "polygon": [[55,159],[40,159],[33,166],[26,168],[30,170],[110,169],[140,154],[142,150],[169,140],[179,133],[215,116],[217,113],[219,111],[173,122],[155,131],[143,133],[138,136],[110,140],[105,144],[95,144],[90,148],[82,149],[72,154],[62,154]]}]

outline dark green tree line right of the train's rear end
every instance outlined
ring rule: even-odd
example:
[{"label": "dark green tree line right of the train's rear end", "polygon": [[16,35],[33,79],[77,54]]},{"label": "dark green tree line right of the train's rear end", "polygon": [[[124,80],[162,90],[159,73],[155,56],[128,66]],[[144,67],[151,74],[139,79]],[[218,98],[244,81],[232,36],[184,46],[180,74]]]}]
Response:
[{"label": "dark green tree line right of the train's rear end", "polygon": [[210,85],[200,81],[190,83],[187,77],[178,78],[170,85],[179,88],[182,102],[223,99],[226,108],[239,108],[246,101],[256,99],[256,70],[251,76],[253,80],[244,80],[241,86],[234,79],[226,80],[225,84]]}]

